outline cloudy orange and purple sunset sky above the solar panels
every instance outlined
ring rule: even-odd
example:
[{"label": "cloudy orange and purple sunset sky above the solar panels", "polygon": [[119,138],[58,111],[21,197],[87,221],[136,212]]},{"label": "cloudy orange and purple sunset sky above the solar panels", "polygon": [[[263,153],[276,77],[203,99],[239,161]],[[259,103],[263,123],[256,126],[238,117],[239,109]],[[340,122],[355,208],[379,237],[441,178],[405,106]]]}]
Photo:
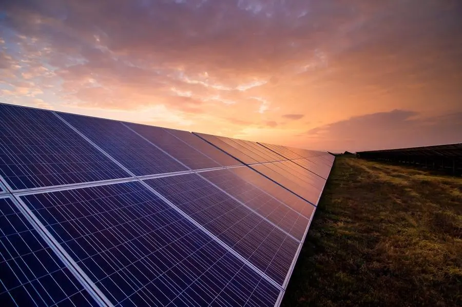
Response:
[{"label": "cloudy orange and purple sunset sky above the solar panels", "polygon": [[0,102],[334,152],[462,142],[462,2],[3,0]]}]

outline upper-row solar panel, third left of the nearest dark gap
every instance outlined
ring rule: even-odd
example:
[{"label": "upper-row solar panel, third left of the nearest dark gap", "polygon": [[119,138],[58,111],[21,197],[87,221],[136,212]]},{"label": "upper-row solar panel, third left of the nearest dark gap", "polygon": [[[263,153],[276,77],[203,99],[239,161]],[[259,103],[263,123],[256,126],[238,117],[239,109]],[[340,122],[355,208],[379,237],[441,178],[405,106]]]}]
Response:
[{"label": "upper-row solar panel, third left of the nearest dark gap", "polygon": [[187,170],[119,121],[63,113],[59,115],[137,176]]}]

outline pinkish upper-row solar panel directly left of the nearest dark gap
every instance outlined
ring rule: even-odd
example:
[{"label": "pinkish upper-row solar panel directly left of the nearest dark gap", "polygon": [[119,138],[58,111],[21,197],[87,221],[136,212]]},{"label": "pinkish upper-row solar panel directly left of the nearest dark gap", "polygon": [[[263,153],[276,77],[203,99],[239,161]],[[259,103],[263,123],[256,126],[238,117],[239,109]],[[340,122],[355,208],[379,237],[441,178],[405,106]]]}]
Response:
[{"label": "pinkish upper-row solar panel directly left of the nearest dark gap", "polygon": [[217,149],[215,146],[208,144],[202,138],[198,137],[195,134],[192,134],[187,131],[175,130],[175,129],[165,129],[168,133],[171,133],[181,139],[183,142],[189,146],[197,149],[204,155],[210,157],[214,161],[217,161],[221,166],[236,166],[242,165],[238,160],[229,156],[228,154],[223,153],[221,150]]}]

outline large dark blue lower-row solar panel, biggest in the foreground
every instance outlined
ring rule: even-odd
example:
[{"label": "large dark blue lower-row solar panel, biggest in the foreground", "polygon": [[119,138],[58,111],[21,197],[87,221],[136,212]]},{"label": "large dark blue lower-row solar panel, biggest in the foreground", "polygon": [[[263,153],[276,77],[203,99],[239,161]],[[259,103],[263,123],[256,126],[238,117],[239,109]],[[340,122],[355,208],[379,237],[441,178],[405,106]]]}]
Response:
[{"label": "large dark blue lower-row solar panel, biggest in the foreground", "polygon": [[280,294],[138,181],[22,199],[114,305],[262,307]]}]

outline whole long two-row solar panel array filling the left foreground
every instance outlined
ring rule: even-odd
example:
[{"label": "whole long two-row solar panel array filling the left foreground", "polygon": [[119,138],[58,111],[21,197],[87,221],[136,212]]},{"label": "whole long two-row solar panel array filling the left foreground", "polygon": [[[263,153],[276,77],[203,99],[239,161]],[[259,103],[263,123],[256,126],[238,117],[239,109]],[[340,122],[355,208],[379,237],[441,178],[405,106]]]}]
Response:
[{"label": "whole long two-row solar panel array filling the left foreground", "polygon": [[0,104],[0,301],[278,306],[333,160]]}]

